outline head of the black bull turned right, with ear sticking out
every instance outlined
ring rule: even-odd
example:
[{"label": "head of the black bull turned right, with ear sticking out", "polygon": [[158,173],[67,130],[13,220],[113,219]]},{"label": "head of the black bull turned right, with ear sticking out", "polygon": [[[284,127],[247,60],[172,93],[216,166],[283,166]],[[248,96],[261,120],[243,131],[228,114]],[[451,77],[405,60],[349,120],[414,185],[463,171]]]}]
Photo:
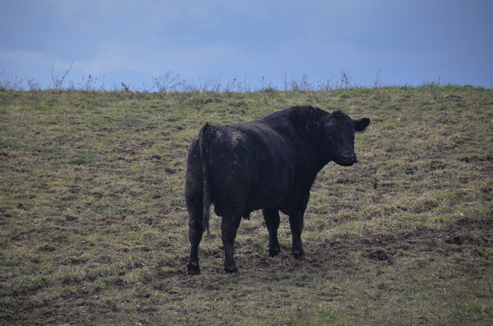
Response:
[{"label": "head of the black bull turned right, with ear sticking out", "polygon": [[325,140],[330,153],[330,160],[343,166],[356,163],[354,154],[354,132],[363,131],[370,124],[370,119],[352,120],[341,111],[334,111],[324,121]]}]

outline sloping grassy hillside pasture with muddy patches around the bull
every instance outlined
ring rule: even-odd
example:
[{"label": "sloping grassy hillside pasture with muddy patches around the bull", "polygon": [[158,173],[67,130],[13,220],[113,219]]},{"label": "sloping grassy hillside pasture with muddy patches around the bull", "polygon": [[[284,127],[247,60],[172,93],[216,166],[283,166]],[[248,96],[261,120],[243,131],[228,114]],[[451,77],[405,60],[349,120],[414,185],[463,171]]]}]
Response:
[{"label": "sloping grassy hillside pasture with muddy patches around the bull", "polygon": [[[302,235],[267,257],[242,221],[240,275],[220,218],[187,277],[187,148],[206,123],[295,104],[371,125],[359,163],[329,163]],[[1,325],[491,325],[493,91],[0,91]]]}]

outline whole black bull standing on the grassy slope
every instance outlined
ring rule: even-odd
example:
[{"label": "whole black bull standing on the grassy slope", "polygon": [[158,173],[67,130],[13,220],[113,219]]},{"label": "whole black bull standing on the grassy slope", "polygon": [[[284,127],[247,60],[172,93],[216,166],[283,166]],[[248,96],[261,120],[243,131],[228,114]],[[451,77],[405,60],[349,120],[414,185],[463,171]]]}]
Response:
[{"label": "whole black bull standing on the grassy slope", "polygon": [[224,270],[238,273],[233,257],[241,218],[262,209],[269,256],[279,254],[279,211],[289,216],[292,255],[308,259],[301,244],[303,216],[318,171],[330,161],[356,163],[354,132],[370,119],[352,120],[312,106],[294,106],[249,123],[206,124],[188,151],[185,203],[189,217],[187,274],[200,274],[198,248],[209,232],[211,203],[222,217]]}]

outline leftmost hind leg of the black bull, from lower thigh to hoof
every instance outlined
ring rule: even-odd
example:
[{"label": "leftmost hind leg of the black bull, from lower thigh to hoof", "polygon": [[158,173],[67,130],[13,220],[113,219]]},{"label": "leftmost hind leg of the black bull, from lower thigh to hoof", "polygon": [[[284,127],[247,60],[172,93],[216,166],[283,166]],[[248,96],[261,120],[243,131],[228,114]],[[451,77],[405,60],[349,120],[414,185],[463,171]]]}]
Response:
[{"label": "leftmost hind leg of the black bull, from lower thigh to hoof", "polygon": [[188,236],[190,239],[190,257],[188,258],[187,275],[200,275],[199,244],[202,240],[204,227],[202,225],[202,203],[187,202],[188,208]]}]

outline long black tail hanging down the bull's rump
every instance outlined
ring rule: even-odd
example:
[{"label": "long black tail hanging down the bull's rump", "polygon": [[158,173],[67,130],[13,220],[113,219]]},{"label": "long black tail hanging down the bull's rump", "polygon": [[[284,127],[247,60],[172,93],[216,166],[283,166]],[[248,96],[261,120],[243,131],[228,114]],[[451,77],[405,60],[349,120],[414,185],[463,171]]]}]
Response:
[{"label": "long black tail hanging down the bull's rump", "polygon": [[211,215],[211,176],[209,171],[209,146],[215,134],[215,128],[206,124],[200,131],[199,148],[200,160],[202,161],[202,184],[204,187],[204,195],[202,197],[203,204],[203,221],[202,226],[209,234],[209,217]]}]

